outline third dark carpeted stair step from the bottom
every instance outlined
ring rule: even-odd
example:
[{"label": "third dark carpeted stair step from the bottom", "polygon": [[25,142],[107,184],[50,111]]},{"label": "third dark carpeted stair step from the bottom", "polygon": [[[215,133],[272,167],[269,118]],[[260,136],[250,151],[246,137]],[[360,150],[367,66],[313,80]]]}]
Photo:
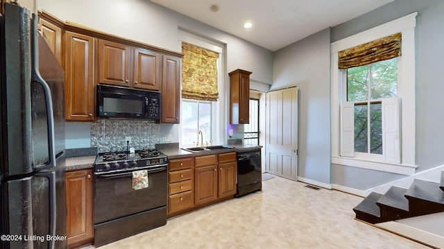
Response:
[{"label": "third dark carpeted stair step from the bottom", "polygon": [[444,192],[439,183],[415,179],[405,193],[412,216],[444,212]]}]

